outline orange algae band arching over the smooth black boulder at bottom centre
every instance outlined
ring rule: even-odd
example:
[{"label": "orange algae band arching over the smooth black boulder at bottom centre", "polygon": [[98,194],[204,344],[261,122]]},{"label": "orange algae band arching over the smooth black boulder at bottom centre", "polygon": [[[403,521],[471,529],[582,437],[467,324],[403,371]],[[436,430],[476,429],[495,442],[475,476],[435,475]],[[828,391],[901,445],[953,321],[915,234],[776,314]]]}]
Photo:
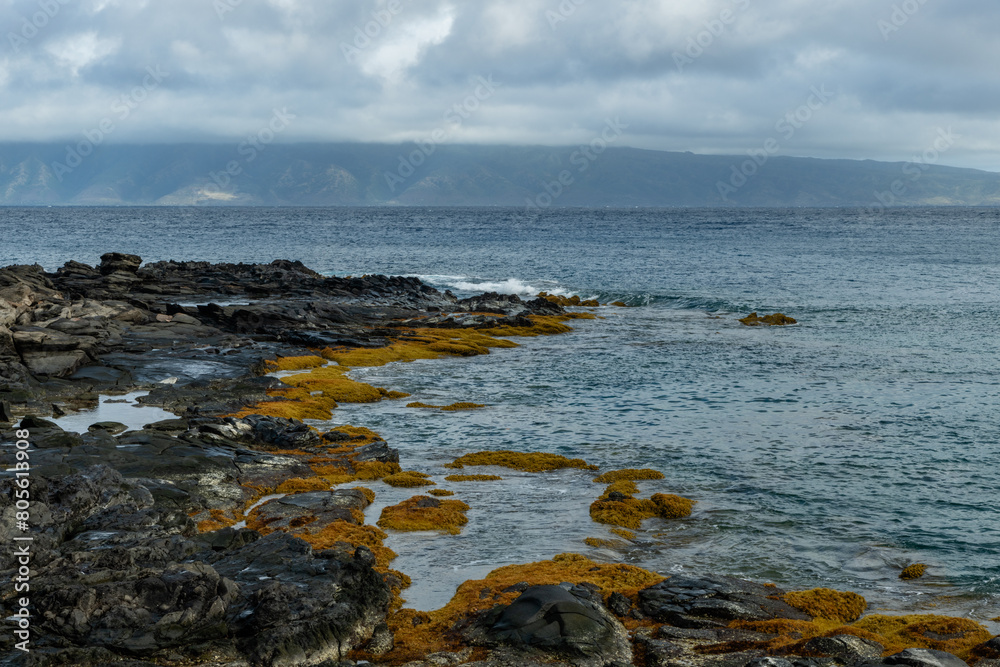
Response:
[{"label": "orange algae band arching over the smooth black boulder at bottom centre", "polygon": [[663,581],[664,577],[624,564],[602,564],[579,554],[560,554],[550,561],[508,565],[490,572],[485,579],[462,583],[451,601],[437,611],[417,612],[403,609],[389,618],[395,635],[395,648],[380,661],[403,664],[423,659],[430,653],[461,648],[449,633],[455,623],[469,614],[488,610],[496,604],[509,604],[519,595],[504,589],[520,582],[530,585],[592,583],[603,596],[613,592],[634,598],[639,589]]}]

